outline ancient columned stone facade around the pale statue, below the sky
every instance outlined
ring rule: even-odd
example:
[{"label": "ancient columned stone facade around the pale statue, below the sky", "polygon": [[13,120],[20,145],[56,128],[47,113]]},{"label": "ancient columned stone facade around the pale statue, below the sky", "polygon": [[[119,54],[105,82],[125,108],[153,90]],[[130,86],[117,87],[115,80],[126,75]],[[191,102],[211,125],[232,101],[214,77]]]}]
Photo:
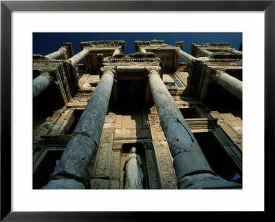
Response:
[{"label": "ancient columned stone facade around the pale statue, below the sky", "polygon": [[[131,147],[144,189],[242,183],[242,52],[230,43],[61,43],[33,57],[33,188],[123,189]],[[84,58],[84,63],[79,61]],[[186,63],[181,62],[181,58]]]}]

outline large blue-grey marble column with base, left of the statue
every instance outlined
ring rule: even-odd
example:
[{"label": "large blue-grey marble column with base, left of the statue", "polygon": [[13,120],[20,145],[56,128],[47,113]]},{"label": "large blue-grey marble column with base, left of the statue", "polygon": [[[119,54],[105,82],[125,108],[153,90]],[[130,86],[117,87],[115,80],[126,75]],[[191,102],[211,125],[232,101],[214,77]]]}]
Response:
[{"label": "large blue-grey marble column with base, left of the statue", "polygon": [[74,129],[51,181],[42,189],[85,189],[91,186],[88,166],[98,150],[115,71],[105,70]]}]

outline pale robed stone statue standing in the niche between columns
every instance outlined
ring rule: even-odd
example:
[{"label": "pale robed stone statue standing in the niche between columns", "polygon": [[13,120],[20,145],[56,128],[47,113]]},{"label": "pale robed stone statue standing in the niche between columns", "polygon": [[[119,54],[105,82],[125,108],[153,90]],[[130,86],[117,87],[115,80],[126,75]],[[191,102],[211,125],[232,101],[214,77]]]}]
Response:
[{"label": "pale robed stone statue standing in the niche between columns", "polygon": [[131,153],[126,157],[124,164],[125,186],[124,189],[143,189],[142,161],[137,153],[137,148],[132,147]]}]

